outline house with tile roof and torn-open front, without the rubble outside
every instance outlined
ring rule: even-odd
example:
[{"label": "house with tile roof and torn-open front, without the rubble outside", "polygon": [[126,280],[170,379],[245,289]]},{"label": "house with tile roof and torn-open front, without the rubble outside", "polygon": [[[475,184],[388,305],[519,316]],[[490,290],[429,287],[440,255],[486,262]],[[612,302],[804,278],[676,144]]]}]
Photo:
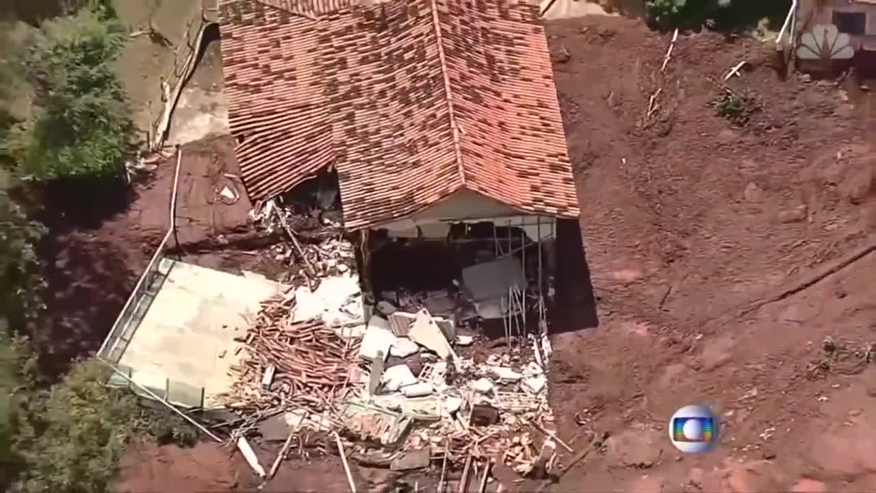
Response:
[{"label": "house with tile roof and torn-open front, without the rubble outside", "polygon": [[230,129],[258,203],[332,170],[368,311],[547,331],[579,210],[538,5],[228,2]]}]

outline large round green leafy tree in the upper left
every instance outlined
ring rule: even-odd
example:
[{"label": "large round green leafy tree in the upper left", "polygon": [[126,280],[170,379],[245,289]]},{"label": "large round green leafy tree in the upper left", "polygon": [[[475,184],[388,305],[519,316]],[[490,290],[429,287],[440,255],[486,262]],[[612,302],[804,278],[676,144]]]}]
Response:
[{"label": "large round green leafy tree in the upper left", "polygon": [[20,63],[34,93],[32,115],[10,135],[23,176],[50,180],[123,171],[133,125],[111,62],[125,33],[102,9],[40,25]]}]

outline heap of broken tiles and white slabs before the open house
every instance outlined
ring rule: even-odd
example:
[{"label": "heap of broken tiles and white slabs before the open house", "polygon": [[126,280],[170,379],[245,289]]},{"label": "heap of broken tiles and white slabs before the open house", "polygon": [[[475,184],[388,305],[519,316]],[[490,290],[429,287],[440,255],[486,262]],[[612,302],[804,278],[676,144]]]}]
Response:
[{"label": "heap of broken tiles and white slabs before the open house", "polygon": [[[349,241],[299,240],[272,203],[261,216],[286,232],[275,254],[295,266],[293,286],[265,302],[243,339],[228,405],[258,418],[243,418],[249,427],[232,436],[258,429],[267,440],[288,434],[288,444],[299,433],[331,434],[342,457],[369,467],[441,461],[443,481],[447,468],[464,464],[467,482],[472,466],[482,490],[492,464],[543,477],[556,467],[557,444],[572,452],[553,431],[545,327],[527,334],[527,304],[542,315],[543,301],[528,289],[539,282],[527,279],[525,262],[480,261],[449,289],[384,291],[365,306]],[[469,325],[484,319],[503,320],[505,344],[479,340]],[[245,439],[238,447],[248,447]]]}]

